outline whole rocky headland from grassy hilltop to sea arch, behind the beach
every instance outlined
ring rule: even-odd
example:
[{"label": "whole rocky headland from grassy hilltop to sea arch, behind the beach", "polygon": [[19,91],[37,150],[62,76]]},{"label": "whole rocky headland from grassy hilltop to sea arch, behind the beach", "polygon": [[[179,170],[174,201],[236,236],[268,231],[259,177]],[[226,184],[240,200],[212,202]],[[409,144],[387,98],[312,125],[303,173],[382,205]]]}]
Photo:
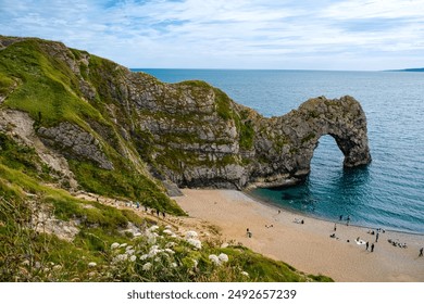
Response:
[{"label": "whole rocky headland from grassy hilltop to sea arch, behind the beach", "polygon": [[[34,135],[71,165],[125,167],[169,189],[297,182],[324,135],[345,166],[371,161],[365,114],[351,97],[311,99],[265,118],[203,81],[164,84],[39,39],[0,37],[0,103],[3,115],[28,112]],[[16,128],[0,126],[8,130]]]}]

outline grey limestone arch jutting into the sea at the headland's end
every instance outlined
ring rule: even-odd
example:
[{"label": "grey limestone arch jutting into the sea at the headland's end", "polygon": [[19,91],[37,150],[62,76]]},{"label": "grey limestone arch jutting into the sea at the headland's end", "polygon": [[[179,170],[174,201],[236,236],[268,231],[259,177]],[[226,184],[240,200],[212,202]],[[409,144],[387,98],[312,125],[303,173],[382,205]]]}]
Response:
[{"label": "grey limestone arch jutting into the sea at the headland's end", "polygon": [[284,186],[305,178],[313,151],[322,136],[332,136],[345,155],[344,165],[356,167],[371,162],[366,117],[351,97],[310,99],[298,110],[259,121],[255,155],[264,160],[253,168],[251,182],[260,187]]}]

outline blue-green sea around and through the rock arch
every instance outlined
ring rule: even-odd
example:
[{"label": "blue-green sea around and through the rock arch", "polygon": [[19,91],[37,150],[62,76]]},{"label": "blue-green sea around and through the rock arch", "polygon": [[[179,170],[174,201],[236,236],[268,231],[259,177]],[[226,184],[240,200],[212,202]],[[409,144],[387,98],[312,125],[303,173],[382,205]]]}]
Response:
[{"label": "blue-green sea around and through the rock arch", "polygon": [[346,169],[320,138],[304,183],[249,194],[300,216],[424,235],[424,73],[142,68],[165,83],[199,79],[260,114],[279,116],[310,98],[351,96],[362,105],[372,163]]}]

